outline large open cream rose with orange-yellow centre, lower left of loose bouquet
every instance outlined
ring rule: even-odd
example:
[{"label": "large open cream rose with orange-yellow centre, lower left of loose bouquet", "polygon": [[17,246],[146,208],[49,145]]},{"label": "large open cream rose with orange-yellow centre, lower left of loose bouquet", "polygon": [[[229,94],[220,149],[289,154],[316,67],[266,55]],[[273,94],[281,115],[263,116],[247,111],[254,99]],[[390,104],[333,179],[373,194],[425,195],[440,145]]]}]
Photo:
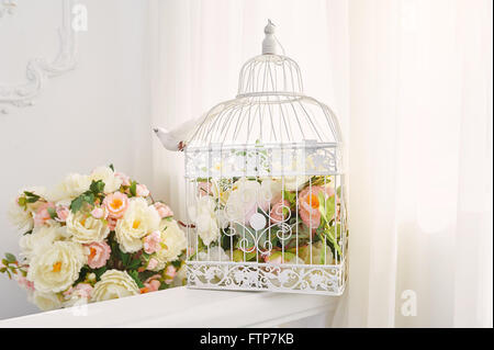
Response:
[{"label": "large open cream rose with orange-yellow centre, lower left of loose bouquet", "polygon": [[86,261],[82,245],[55,241],[44,251],[36,251],[30,262],[27,280],[34,282],[40,292],[65,291],[79,278]]}]

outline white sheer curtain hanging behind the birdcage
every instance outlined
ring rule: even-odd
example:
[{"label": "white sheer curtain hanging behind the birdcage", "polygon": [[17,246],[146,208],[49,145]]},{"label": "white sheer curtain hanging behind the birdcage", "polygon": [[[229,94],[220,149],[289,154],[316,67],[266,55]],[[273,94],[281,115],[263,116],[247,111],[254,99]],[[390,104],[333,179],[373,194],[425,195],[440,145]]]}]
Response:
[{"label": "white sheer curtain hanging behind the birdcage", "polygon": [[[319,326],[492,326],[490,0],[151,0],[150,16],[155,125],[232,98],[268,18],[337,112],[349,285]],[[182,169],[155,139],[154,189],[179,216]]]}]

